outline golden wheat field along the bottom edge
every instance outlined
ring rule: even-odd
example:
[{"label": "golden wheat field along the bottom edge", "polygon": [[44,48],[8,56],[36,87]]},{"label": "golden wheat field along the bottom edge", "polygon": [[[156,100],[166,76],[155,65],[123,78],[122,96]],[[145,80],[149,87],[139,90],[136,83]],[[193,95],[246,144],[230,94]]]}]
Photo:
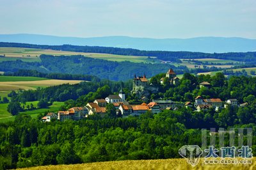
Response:
[{"label": "golden wheat field along the bottom edge", "polygon": [[110,161],[110,162],[94,162],[88,164],[74,164],[74,165],[58,165],[58,166],[38,166],[29,167],[24,169],[170,169],[170,170],[182,170],[182,169],[200,169],[200,170],[255,170],[256,169],[256,158],[253,158],[253,164],[251,165],[204,165],[201,159],[199,164],[195,167],[190,166],[184,158],[173,158],[173,159],[157,159],[157,160],[122,160],[122,161]]}]

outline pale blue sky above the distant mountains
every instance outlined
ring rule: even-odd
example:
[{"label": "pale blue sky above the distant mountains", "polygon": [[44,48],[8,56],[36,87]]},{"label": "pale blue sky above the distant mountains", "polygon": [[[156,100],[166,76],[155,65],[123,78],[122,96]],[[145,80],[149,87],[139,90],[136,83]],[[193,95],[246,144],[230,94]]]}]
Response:
[{"label": "pale blue sky above the distant mountains", "polygon": [[0,0],[0,34],[256,39],[255,0]]}]

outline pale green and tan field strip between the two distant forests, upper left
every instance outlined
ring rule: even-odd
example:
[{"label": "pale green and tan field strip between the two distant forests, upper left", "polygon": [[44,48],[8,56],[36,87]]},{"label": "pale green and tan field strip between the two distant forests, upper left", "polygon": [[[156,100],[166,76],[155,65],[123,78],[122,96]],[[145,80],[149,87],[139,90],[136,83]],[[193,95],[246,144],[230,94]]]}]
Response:
[{"label": "pale green and tan field strip between the two distant forests, upper left", "polygon": [[0,58],[1,61],[15,61],[21,59],[22,61],[40,61],[41,54],[54,55],[54,56],[72,56],[72,55],[83,55],[89,58],[106,59],[109,61],[131,61],[134,63],[154,63],[157,61],[156,58],[147,56],[123,56],[115,54],[101,54],[101,53],[87,53],[87,52],[70,52],[62,50],[50,50],[50,49],[28,49],[18,47],[0,47],[0,55],[5,55],[5,58]]}]

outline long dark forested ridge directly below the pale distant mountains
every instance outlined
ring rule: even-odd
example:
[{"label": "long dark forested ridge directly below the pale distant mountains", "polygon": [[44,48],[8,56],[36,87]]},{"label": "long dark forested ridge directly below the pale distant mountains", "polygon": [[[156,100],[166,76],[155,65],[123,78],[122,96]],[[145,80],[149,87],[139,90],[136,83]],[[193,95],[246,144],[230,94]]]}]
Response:
[{"label": "long dark forested ridge directly below the pale distant mountains", "polygon": [[180,59],[195,59],[195,58],[216,58],[216,59],[232,59],[235,61],[246,62],[246,64],[256,63],[256,52],[227,52],[227,53],[203,53],[203,52],[170,52],[170,51],[147,51],[136,49],[122,49],[116,47],[90,47],[77,45],[33,45],[28,43],[6,43],[0,42],[0,47],[24,47],[35,49],[52,49],[52,50],[67,50],[74,52],[95,52],[107,54],[119,54],[125,56],[155,56],[164,61],[173,61],[180,63]]}]

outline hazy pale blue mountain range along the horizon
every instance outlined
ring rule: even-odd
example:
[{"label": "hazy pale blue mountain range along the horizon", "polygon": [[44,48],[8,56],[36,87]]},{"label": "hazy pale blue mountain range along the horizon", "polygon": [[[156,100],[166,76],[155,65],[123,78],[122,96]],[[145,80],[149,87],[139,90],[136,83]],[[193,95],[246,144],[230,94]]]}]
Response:
[{"label": "hazy pale blue mountain range along the horizon", "polygon": [[256,51],[256,40],[247,38],[197,37],[197,38],[133,38],[129,36],[104,36],[77,38],[49,35],[0,35],[0,42],[33,43],[38,45],[88,45],[120,47],[139,50],[168,50],[191,52],[248,52]]}]

